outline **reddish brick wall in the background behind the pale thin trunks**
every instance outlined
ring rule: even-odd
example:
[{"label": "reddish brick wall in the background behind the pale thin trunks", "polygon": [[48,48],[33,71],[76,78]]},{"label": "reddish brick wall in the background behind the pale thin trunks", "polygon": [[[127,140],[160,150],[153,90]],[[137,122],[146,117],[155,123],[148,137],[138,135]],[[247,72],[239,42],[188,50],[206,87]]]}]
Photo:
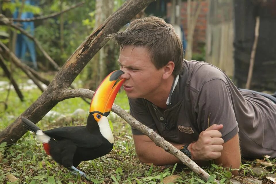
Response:
[{"label": "reddish brick wall in the background behind the pale thin trunks", "polygon": [[[192,1],[193,3],[193,1]],[[200,52],[200,47],[205,45],[206,41],[206,26],[207,26],[207,14],[208,14],[208,1],[204,0],[201,2],[202,7],[198,20],[196,22],[195,32],[193,35],[193,52]],[[167,16],[170,17],[170,6],[171,3],[167,4]],[[181,4],[181,24],[185,30],[185,36],[187,39],[187,1]]]}]

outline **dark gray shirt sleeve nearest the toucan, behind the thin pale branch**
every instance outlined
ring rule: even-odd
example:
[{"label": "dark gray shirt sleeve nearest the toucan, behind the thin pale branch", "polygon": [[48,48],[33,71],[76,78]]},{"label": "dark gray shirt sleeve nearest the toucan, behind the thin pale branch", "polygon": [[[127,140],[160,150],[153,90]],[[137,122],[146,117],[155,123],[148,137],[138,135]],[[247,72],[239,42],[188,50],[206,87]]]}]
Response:
[{"label": "dark gray shirt sleeve nearest the toucan, behind the thin pale branch", "polygon": [[[146,125],[147,127],[157,130],[152,115],[150,114],[146,101],[142,98],[130,99],[129,98],[129,112],[136,120]],[[131,127],[133,135],[144,135],[139,130]]]}]

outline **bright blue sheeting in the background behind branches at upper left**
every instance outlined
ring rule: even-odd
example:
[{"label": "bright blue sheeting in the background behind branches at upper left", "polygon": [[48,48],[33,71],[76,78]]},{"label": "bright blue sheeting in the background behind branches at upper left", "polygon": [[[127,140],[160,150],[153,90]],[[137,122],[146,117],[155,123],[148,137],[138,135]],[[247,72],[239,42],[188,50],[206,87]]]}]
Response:
[{"label": "bright blue sheeting in the background behind branches at upper left", "polygon": [[[14,1],[13,1],[14,2]],[[34,0],[25,0],[25,4],[35,5]],[[13,14],[13,18],[18,18],[18,8]],[[33,18],[34,14],[31,12],[22,12],[20,19]],[[15,22],[16,23],[16,22]],[[31,35],[34,35],[34,22],[19,22],[24,30]],[[16,39],[16,56],[22,62],[32,62],[32,67],[37,69],[36,51],[34,41],[26,37],[24,34],[18,34]]]}]

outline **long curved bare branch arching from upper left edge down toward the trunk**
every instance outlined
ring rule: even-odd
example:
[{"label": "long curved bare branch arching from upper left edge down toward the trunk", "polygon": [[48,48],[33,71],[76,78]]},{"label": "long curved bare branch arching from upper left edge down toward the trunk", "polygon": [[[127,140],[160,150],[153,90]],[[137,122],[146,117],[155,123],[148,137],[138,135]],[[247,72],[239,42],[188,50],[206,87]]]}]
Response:
[{"label": "long curved bare branch arching from upper left edge down toward the trunk", "polygon": [[26,37],[30,38],[31,40],[34,41],[35,45],[39,48],[39,50],[43,53],[43,55],[46,57],[47,60],[52,64],[52,66],[55,68],[55,70],[60,70],[60,67],[54,62],[54,60],[48,55],[48,53],[43,49],[39,41],[37,41],[36,38],[34,38],[31,34],[29,34],[27,31],[25,31],[23,28],[17,26],[16,24],[7,21],[8,19],[1,14],[0,15],[0,23],[5,24],[6,26],[11,26],[16,30],[19,30],[22,34],[26,35]]}]

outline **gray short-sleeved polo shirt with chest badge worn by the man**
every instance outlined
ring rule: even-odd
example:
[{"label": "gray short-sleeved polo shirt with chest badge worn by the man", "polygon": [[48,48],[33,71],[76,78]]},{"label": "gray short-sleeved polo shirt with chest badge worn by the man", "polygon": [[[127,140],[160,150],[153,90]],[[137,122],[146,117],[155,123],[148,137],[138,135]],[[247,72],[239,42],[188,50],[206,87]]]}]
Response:
[{"label": "gray short-sleeved polo shirt with chest badge worn by the man", "polygon": [[[223,124],[224,142],[239,133],[245,158],[276,157],[276,104],[262,95],[239,91],[217,67],[184,60],[161,110],[145,99],[129,99],[130,114],[168,141],[191,143],[212,124]],[[143,135],[132,129],[134,135]]]}]

